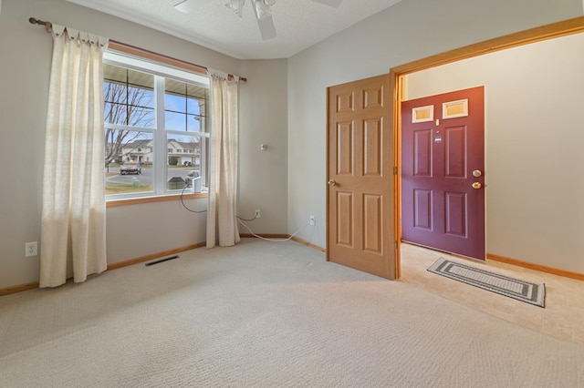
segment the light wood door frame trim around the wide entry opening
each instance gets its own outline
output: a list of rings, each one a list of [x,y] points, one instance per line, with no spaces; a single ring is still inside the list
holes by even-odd
[[[394,239],[397,241],[395,252],[395,277],[401,278],[401,101],[405,98],[405,76],[428,68],[482,56],[516,46],[541,42],[560,36],[584,32],[584,16],[575,17],[546,26],[531,28],[515,34],[485,40],[470,46],[456,48],[435,56],[428,56],[405,65],[391,67],[390,90],[393,104],[390,104],[390,119],[393,122],[393,206]]]

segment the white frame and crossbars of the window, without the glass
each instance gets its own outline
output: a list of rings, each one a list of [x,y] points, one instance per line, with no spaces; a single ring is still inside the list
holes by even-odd
[[[172,78],[177,81],[199,85],[202,87],[210,87],[208,77],[201,74],[189,72],[177,67],[165,65],[152,61],[147,58],[130,56],[113,50],[106,50],[103,54],[103,63],[129,68],[131,70],[141,71],[154,76],[154,126],[152,128],[142,128],[134,126],[124,126],[120,124],[105,123],[105,128],[113,128],[120,130],[148,132],[153,136],[154,144],[154,160],[152,166],[152,191],[148,192],[134,192],[127,194],[112,194],[106,195],[106,201],[114,199],[138,199],[148,197],[172,196],[180,194],[182,189],[167,189],[167,165],[168,165],[168,144],[167,138],[172,135],[176,136],[197,136],[204,138],[207,143],[205,147],[201,147],[201,176],[207,176],[207,163],[209,161],[205,155],[205,149],[208,146],[210,134],[208,132],[187,132],[180,130],[170,130],[165,128],[164,118],[164,79]],[[211,101],[209,101],[209,104]],[[210,117],[207,117],[209,120]],[[203,129],[203,128],[202,128]]]

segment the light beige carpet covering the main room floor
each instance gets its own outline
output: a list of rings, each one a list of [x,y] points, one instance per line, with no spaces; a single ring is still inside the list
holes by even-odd
[[[0,387],[584,386],[577,344],[295,242],[180,256],[1,297]]]

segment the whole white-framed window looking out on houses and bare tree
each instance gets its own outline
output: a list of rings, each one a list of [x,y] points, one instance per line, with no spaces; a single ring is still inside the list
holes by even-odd
[[[207,77],[106,51],[104,99],[107,199],[206,191]]]

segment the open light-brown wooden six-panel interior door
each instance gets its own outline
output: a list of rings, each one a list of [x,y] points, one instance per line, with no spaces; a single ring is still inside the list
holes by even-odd
[[[396,277],[389,75],[328,87],[327,260]]]

